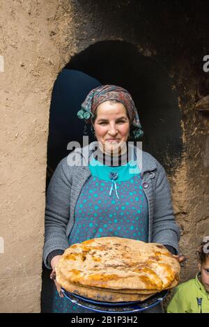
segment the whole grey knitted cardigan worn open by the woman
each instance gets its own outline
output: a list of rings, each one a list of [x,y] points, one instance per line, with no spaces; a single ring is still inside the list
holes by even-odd
[[[74,213],[77,199],[87,178],[91,176],[88,160],[95,142],[75,149],[63,158],[50,180],[45,206],[45,245],[43,260],[51,268],[47,257],[54,250],[69,247],[68,236],[75,222]],[[95,148],[94,148],[95,149]],[[138,148],[134,149],[134,158]],[[141,151],[137,165],[141,171],[142,183],[148,200],[148,241],[170,245],[178,252],[180,230],[176,225],[171,203],[171,190],[167,175],[152,155]]]

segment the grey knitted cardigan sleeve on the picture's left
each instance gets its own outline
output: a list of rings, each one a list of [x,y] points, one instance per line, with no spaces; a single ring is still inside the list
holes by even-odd
[[[45,206],[45,245],[43,260],[47,268],[47,257],[54,250],[68,248],[66,228],[70,218],[70,176],[66,158],[56,167],[49,182]]]

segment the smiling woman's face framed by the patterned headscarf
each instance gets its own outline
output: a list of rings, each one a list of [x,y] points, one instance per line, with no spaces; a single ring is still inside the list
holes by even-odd
[[[102,151],[119,155],[130,132],[130,121],[123,103],[105,101],[98,105],[93,126]]]

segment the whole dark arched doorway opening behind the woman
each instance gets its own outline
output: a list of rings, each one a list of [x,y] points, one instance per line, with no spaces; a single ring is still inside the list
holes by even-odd
[[[172,79],[137,47],[123,41],[102,41],[75,55],[54,83],[49,116],[47,185],[59,161],[68,155],[68,142],[83,142],[84,121],[77,118],[81,103],[100,84],[116,84],[130,92],[139,112],[143,150],[165,169],[175,169],[182,151],[180,110]],[[89,141],[93,135],[88,126]],[[51,312],[49,270],[42,273],[42,312]]]

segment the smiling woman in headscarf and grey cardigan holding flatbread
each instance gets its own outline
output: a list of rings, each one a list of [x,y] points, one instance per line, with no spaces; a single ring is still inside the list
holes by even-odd
[[[88,93],[78,116],[92,124],[97,141],[63,158],[49,183],[43,257],[52,279],[63,251],[90,238],[162,243],[177,254],[180,234],[164,168],[128,144],[130,133],[136,139],[143,135],[130,93],[99,86]],[[90,312],[61,298],[56,287],[54,312]]]

